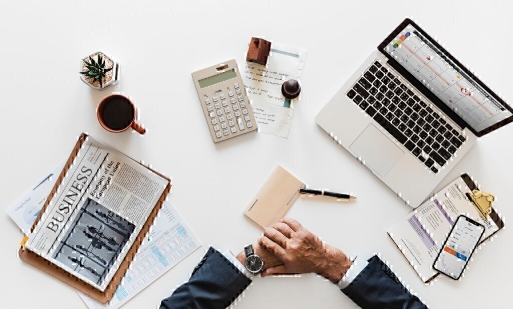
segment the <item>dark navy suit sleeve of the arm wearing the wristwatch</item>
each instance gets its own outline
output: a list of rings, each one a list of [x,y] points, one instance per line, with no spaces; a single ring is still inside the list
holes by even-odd
[[[164,299],[161,309],[229,306],[251,283],[224,255],[210,247],[187,283]]]

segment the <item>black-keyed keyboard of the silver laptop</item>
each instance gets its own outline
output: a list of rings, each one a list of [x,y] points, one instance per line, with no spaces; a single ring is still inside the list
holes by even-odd
[[[459,129],[378,61],[346,95],[433,173],[438,173],[466,140]]]

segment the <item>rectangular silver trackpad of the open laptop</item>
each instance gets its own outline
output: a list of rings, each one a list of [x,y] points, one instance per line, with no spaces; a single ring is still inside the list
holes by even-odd
[[[374,125],[369,124],[351,146],[365,165],[384,177],[399,161],[404,151]]]

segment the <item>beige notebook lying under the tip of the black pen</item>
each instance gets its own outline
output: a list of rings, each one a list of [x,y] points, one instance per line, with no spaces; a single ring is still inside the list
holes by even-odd
[[[263,228],[272,226],[285,216],[305,185],[278,165],[244,209],[244,215]]]

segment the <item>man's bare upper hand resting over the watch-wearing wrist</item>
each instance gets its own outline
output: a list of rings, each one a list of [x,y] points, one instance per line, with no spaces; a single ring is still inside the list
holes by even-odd
[[[259,244],[283,262],[268,267],[262,277],[317,273],[337,283],[352,264],[341,250],[326,245],[294,219],[285,218],[266,228]]]

